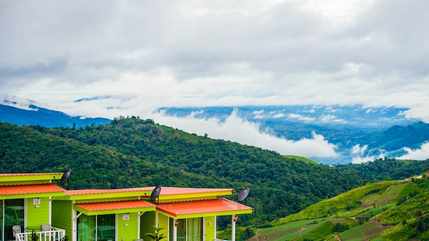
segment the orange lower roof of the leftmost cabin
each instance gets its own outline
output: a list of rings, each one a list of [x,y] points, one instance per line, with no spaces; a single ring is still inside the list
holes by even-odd
[[[65,192],[65,189],[53,183],[0,186],[0,195],[38,194],[47,192]]]

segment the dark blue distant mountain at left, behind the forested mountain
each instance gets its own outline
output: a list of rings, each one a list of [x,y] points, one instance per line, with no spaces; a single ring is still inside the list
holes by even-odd
[[[110,123],[107,118],[82,118],[63,112],[27,105],[27,110],[10,105],[0,105],[0,121],[15,125],[41,125],[43,127],[84,127]]]

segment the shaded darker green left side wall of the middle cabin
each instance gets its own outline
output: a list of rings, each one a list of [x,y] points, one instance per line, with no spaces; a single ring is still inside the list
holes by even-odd
[[[73,228],[72,207],[71,201],[52,201],[52,226],[64,229],[70,240]]]

